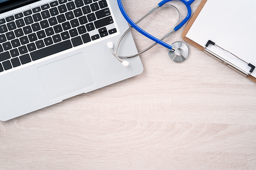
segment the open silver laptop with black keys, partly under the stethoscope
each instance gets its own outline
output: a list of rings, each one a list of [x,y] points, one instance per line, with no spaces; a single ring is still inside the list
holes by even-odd
[[[136,76],[107,43],[128,28],[116,0],[0,0],[0,120]],[[119,55],[137,53],[129,33]]]

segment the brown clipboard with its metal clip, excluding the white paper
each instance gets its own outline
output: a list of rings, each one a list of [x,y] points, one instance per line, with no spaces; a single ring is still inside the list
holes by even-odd
[[[200,5],[198,6],[196,12],[194,13],[194,15],[192,16],[191,20],[189,21],[188,25],[186,26],[185,30],[183,31],[182,33],[182,38],[183,40],[185,40],[186,42],[188,42],[189,44],[193,45],[194,47],[198,48],[199,50],[201,51],[205,51],[206,49],[206,46],[208,45],[215,45],[214,42],[212,42],[211,40],[208,41],[208,43],[206,44],[205,47],[197,44],[196,42],[194,42],[193,40],[189,39],[187,36],[188,32],[190,31],[191,27],[193,26],[194,22],[196,21],[198,15],[200,14],[200,12],[202,11],[203,7],[205,6],[207,0],[202,0],[202,2],[200,3]],[[219,47],[219,46],[218,46]],[[220,47],[221,48],[221,47]],[[222,48],[221,48],[222,49]],[[224,50],[224,49],[223,49]],[[208,53],[209,54],[209,53]],[[232,53],[231,53],[232,54]],[[210,55],[210,54],[209,54]],[[210,55],[212,56],[212,55]],[[215,56],[216,57],[216,56]],[[218,60],[218,58],[216,57],[216,59]],[[219,60],[220,61],[220,60]],[[242,60],[243,61],[243,60]],[[222,62],[224,64],[227,65],[226,62]],[[249,63],[247,63],[249,64]],[[250,71],[253,71],[253,69],[255,68],[253,65],[251,65],[251,70]],[[254,67],[254,68],[253,68]],[[234,69],[233,67],[231,67],[232,69]],[[237,71],[237,69],[234,69]],[[255,72],[256,72],[256,69],[255,69]],[[251,81],[253,81],[254,83],[256,83],[256,78],[251,76],[251,75],[247,75],[246,78],[250,79]]]

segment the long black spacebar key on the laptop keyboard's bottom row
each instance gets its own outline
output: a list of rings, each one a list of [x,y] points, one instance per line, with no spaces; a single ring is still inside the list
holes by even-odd
[[[63,41],[61,43],[54,44],[52,46],[34,51],[34,52],[30,53],[30,56],[31,56],[32,60],[35,61],[35,60],[39,60],[41,58],[59,53],[64,50],[71,49],[71,48],[72,48],[72,44],[71,44],[70,40],[67,40],[67,41]]]

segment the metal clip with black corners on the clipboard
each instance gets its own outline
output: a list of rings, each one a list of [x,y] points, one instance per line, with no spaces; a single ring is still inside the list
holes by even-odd
[[[230,67],[231,69],[237,71],[238,73],[241,73],[241,74],[244,75],[245,77],[249,76],[249,75],[254,71],[254,69],[255,69],[255,66],[254,66],[254,65],[252,65],[252,64],[250,64],[250,63],[247,63],[246,61],[240,59],[239,57],[237,57],[237,56],[234,55],[233,53],[230,53],[229,51],[227,51],[227,50],[225,50],[225,49],[223,49],[223,48],[221,48],[221,49],[224,50],[224,51],[226,51],[226,52],[228,52],[228,53],[230,53],[230,54],[232,54],[232,55],[235,56],[236,58],[238,58],[238,59],[240,59],[241,61],[243,61],[244,63],[246,63],[249,67],[251,67],[249,73],[247,73],[246,71],[244,71],[244,70],[240,69],[239,67],[233,65],[232,63],[228,62],[227,60],[225,60],[225,59],[223,59],[222,57],[218,56],[217,54],[213,53],[212,51],[208,50],[207,47],[208,47],[210,44],[213,45],[213,46],[215,45],[215,46],[221,48],[220,46],[216,45],[213,41],[209,40],[209,41],[207,42],[207,44],[205,45],[205,48],[204,48],[204,52],[207,53],[208,55],[212,56],[213,58],[217,59],[218,61],[222,62],[223,64],[227,65],[227,66]]]

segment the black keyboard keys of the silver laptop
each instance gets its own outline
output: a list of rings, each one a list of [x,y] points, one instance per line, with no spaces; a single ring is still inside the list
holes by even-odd
[[[106,0],[58,0],[0,19],[0,72],[116,33],[106,28],[109,8]]]

